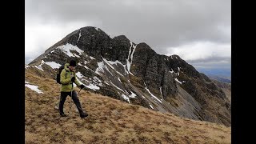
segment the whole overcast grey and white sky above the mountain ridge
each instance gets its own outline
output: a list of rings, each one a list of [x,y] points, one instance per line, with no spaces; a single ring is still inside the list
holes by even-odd
[[[25,53],[31,62],[74,30],[146,42],[195,67],[230,69],[230,0],[25,0]]]

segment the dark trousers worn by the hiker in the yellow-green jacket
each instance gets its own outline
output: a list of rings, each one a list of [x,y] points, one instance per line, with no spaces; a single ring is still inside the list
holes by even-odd
[[[66,101],[66,97],[68,95],[71,97],[71,92],[61,92],[61,98],[60,98],[60,102],[59,102],[59,112],[61,114],[64,114],[63,105],[64,105],[64,102]],[[73,99],[74,104],[78,107],[79,113],[83,114],[84,112],[82,111],[81,103],[78,99],[78,94],[74,90],[72,91],[72,97],[71,98]]]

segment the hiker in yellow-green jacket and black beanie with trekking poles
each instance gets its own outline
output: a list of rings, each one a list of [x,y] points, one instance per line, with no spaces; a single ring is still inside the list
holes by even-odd
[[[61,88],[61,98],[59,102],[59,113],[62,117],[66,117],[66,114],[64,114],[63,112],[63,105],[64,105],[64,102],[66,101],[66,97],[69,95],[73,99],[74,104],[77,106],[80,117],[86,118],[88,114],[86,114],[86,112],[82,110],[82,106],[78,99],[78,95],[74,91],[74,87],[73,87],[73,82],[77,86],[80,86],[81,89],[85,87],[83,84],[80,84],[78,82],[75,75],[75,70],[74,70],[75,67],[76,67],[76,62],[74,60],[71,60],[70,63],[65,64],[64,69],[60,74],[60,82],[62,83],[62,88]]]

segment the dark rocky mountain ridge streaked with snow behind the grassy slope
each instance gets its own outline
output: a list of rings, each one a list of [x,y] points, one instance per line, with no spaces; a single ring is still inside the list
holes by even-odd
[[[110,38],[93,26],[68,34],[26,66],[55,78],[58,66],[78,62],[86,90],[162,113],[230,126],[231,103],[221,88],[178,55],[157,54],[125,35]]]

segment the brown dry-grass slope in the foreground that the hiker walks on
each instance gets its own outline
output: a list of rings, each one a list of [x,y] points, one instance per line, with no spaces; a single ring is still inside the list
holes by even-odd
[[[88,90],[81,90],[78,96],[89,116],[81,119],[67,97],[64,110],[68,117],[61,118],[54,109],[60,85],[44,74],[46,70],[26,69],[27,144],[231,143],[230,127],[163,114]]]

